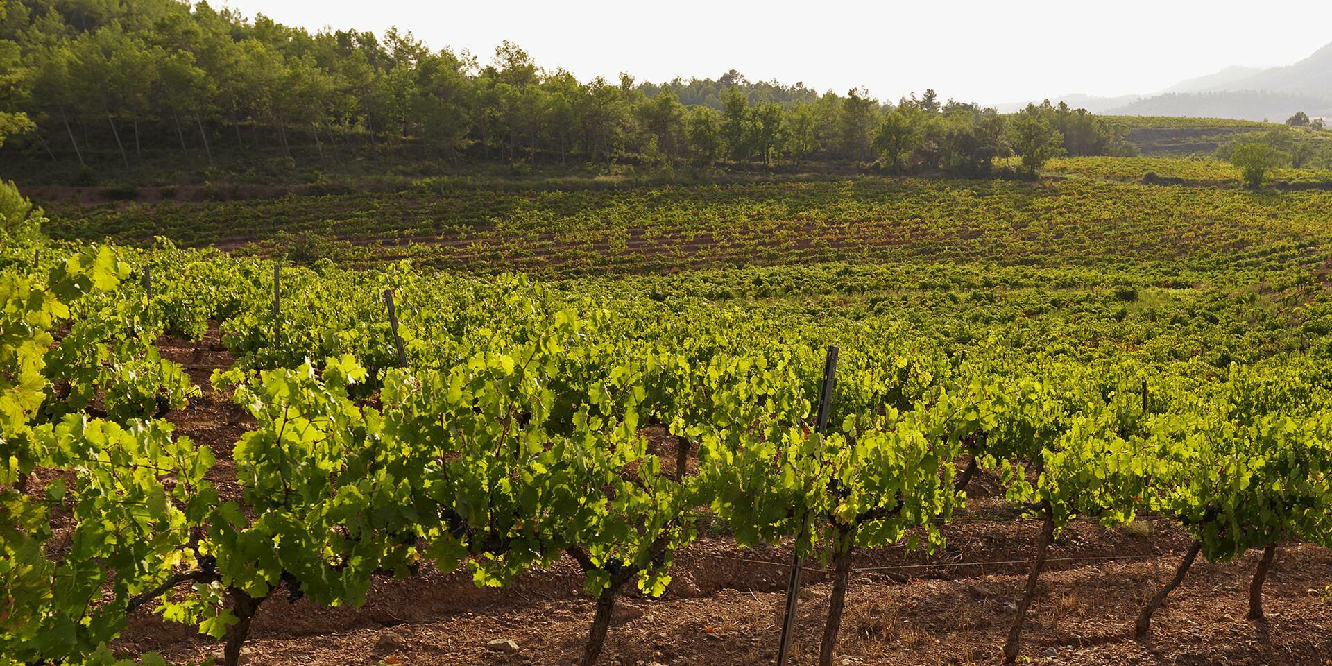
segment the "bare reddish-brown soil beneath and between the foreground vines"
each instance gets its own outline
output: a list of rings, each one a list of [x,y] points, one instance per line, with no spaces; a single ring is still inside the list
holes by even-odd
[[[204,388],[190,409],[170,420],[180,434],[213,446],[214,478],[222,481],[232,473],[229,446],[248,425],[225,396],[208,388],[210,366],[230,358],[217,350],[216,329],[201,344],[160,344],[165,356],[192,364],[190,373]],[[653,446],[674,465],[670,437],[654,434]],[[1039,526],[984,497],[991,488],[992,481],[978,478],[975,494],[982,497],[946,527],[942,551],[890,547],[855,557],[836,663],[1000,662],[999,647]],[[1151,641],[1128,638],[1138,609],[1172,575],[1185,545],[1167,521],[1142,521],[1123,530],[1084,521],[1068,526],[1051,546],[1022,654],[1032,663],[1060,665],[1332,663],[1332,602],[1323,595],[1332,582],[1332,551],[1300,543],[1277,551],[1264,595],[1267,621],[1244,619],[1255,551],[1224,565],[1195,565],[1158,613]],[[611,627],[599,663],[773,662],[789,558],[786,547],[746,549],[725,535],[705,535],[678,554],[662,599],[621,601],[634,610]],[[817,659],[830,591],[821,562],[811,562],[807,571],[797,665]],[[465,574],[436,571],[385,579],[360,609],[312,607],[274,597],[256,617],[245,657],[256,666],[577,663],[593,609],[579,587],[577,567],[563,561],[507,589],[477,589]],[[517,642],[519,651],[488,650],[486,642],[496,638]],[[220,643],[149,613],[132,618],[117,647],[160,651],[174,661],[220,655]]]

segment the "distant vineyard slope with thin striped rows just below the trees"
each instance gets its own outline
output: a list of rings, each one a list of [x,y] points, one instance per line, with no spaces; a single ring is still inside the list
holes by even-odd
[[[1192,165],[1195,163],[1181,163]],[[1056,168],[1229,178],[1215,163],[1070,160]],[[1136,170],[1135,170],[1136,169]],[[1116,176],[1119,177],[1119,176]],[[819,261],[1220,268],[1327,233],[1332,194],[1264,196],[1074,178],[1054,182],[863,178],[610,190],[430,189],[224,204],[55,209],[61,238],[254,249],[314,262],[538,276],[674,272]]]

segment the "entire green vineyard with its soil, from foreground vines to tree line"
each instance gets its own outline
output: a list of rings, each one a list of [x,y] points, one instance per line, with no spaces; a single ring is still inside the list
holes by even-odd
[[[1332,197],[1052,168],[57,208],[0,663],[1324,663]]]

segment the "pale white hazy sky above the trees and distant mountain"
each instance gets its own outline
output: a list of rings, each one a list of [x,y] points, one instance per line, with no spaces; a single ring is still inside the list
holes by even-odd
[[[409,29],[432,48],[490,60],[510,40],[582,80],[717,77],[803,81],[880,99],[1022,101],[1151,93],[1225,65],[1279,65],[1332,41],[1325,12],[1229,0],[852,3],[844,0],[408,1],[228,0],[285,24]],[[1319,16],[1321,13],[1321,16]],[[1307,20],[1300,20],[1304,15]]]

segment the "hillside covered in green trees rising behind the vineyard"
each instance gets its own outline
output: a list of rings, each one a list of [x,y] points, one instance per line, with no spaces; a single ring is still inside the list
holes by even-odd
[[[1028,109],[1023,133],[934,91],[886,104],[735,71],[579,81],[510,43],[480,59],[206,3],[0,0],[0,169],[27,184],[322,178],[368,161],[366,174],[818,161],[986,176],[1014,153],[1128,149],[1123,129],[1068,108]]]

